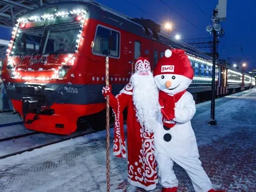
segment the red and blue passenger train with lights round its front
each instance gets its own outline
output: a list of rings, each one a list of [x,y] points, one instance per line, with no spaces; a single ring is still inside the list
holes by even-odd
[[[184,49],[195,70],[189,92],[211,92],[212,58],[161,33],[148,19],[132,19],[94,1],[42,6],[17,20],[3,65],[3,82],[26,128],[71,134],[89,122],[105,127],[105,58],[117,94],[129,83],[134,61],[152,68],[166,49]],[[252,88],[255,79],[217,61],[216,95]]]

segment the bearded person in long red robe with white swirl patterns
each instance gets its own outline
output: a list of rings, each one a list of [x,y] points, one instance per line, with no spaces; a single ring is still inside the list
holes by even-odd
[[[102,90],[109,95],[115,113],[114,155],[126,157],[122,112],[127,107],[128,182],[127,191],[136,187],[150,191],[156,188],[157,164],[154,157],[154,131],[158,126],[159,93],[147,58],[138,58],[134,74],[116,97],[111,86]]]

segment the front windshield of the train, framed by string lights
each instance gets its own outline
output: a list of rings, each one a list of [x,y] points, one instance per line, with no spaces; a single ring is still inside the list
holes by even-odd
[[[10,55],[73,53],[79,29],[77,23],[20,28]]]

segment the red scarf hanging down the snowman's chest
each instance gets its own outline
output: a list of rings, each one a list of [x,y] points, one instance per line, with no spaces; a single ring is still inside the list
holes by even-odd
[[[180,97],[186,92],[187,90],[184,90],[182,92],[176,93],[175,95],[168,95],[168,93],[165,93],[163,91],[159,91],[159,104],[163,106],[164,108],[161,109],[161,112],[163,114],[163,124],[168,127],[172,128],[176,123],[173,122],[173,118],[175,118],[175,102],[178,102]]]

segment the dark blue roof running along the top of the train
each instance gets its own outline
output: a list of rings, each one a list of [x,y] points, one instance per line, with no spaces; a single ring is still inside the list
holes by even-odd
[[[195,47],[182,43],[178,40],[175,40],[171,36],[168,36],[158,30],[157,25],[154,21],[148,19],[134,19],[123,13],[116,12],[115,10],[104,6],[103,4],[97,3],[92,0],[83,0],[83,1],[61,1],[58,3],[46,4],[31,12],[25,13],[22,17],[28,18],[31,16],[40,16],[44,15],[47,11],[47,8],[51,8],[54,6],[58,6],[57,12],[69,12],[71,10],[83,9],[88,11],[89,18],[100,20],[101,22],[105,22],[111,26],[115,26],[116,28],[122,29],[124,31],[128,31],[135,35],[141,36],[143,38],[151,38],[156,42],[160,42],[162,44],[166,44],[174,49],[184,49],[188,54],[193,56],[200,57],[204,60],[212,60],[212,57],[206,54]],[[143,21],[147,23],[147,25],[143,25]],[[145,27],[146,26],[146,27]],[[149,28],[147,28],[149,26]],[[151,26],[151,28],[150,28]],[[150,35],[145,34],[145,30],[148,30]],[[156,35],[157,33],[157,35]],[[154,38],[154,37],[158,38]],[[225,61],[216,60],[219,64],[227,65]],[[228,68],[232,68],[229,65]],[[232,70],[236,70],[232,68]]]

